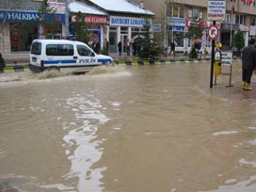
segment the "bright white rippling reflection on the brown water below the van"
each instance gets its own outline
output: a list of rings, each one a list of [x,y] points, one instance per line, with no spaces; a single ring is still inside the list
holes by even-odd
[[[97,131],[109,119],[103,113],[103,105],[93,94],[78,94],[67,99],[67,104],[72,107],[76,120],[82,120],[83,123],[81,126],[72,123],[74,126],[63,137],[67,143],[66,154],[72,163],[71,171],[64,178],[78,177],[78,191],[102,191],[100,180],[106,168],[91,167],[103,154],[103,149],[100,148],[103,140],[97,139]]]

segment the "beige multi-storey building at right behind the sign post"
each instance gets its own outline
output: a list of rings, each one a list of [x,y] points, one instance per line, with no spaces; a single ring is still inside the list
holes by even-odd
[[[201,0],[132,0],[135,3],[143,2],[145,7],[155,13],[154,24],[161,26],[154,33],[155,37],[164,37],[163,46],[168,46],[175,40],[178,51],[184,51],[192,46],[192,41],[186,40],[184,34],[193,18],[197,18],[204,29],[200,37],[202,48],[211,46],[207,30],[211,21],[207,21],[208,1]],[[245,44],[255,37],[256,29],[256,1],[255,0],[226,0],[225,21],[217,23],[220,41],[224,46],[233,46],[233,36],[241,30],[244,34]],[[208,48],[209,49],[209,48]]]

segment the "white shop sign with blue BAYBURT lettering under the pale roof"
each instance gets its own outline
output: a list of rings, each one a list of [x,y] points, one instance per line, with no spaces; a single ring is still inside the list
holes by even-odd
[[[148,23],[152,24],[152,21],[148,20]],[[134,18],[134,17],[110,16],[109,24],[111,26],[143,27],[146,24],[146,20],[142,18]]]

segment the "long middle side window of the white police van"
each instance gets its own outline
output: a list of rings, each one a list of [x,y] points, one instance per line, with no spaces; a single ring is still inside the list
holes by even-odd
[[[46,56],[73,56],[72,44],[47,44]]]

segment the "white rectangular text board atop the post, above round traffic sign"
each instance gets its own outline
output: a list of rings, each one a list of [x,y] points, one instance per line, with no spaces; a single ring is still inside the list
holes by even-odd
[[[226,17],[226,0],[208,0],[207,20],[221,22]]]

